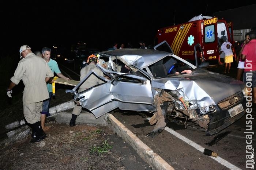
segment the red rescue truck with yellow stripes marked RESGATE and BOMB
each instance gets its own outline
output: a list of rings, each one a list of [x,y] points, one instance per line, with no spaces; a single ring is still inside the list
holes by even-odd
[[[204,56],[205,61],[208,61],[211,66],[221,65],[225,58],[225,53],[219,55],[222,40],[234,44],[233,24],[217,17],[199,15],[187,23],[160,28],[155,36],[154,44],[164,40],[172,48],[175,55],[191,63],[195,63],[196,52],[201,61],[202,56]],[[202,47],[203,55],[200,54],[199,50],[194,49],[198,44]],[[233,51],[235,50],[233,49]],[[236,54],[234,61],[235,59]]]

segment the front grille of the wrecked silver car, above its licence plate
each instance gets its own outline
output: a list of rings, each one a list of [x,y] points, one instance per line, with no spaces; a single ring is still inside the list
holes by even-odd
[[[218,102],[218,106],[223,110],[227,110],[237,103],[241,103],[244,100],[244,97],[241,92],[238,92],[236,94],[233,94],[232,96],[229,96],[228,98],[225,98],[222,101]]]

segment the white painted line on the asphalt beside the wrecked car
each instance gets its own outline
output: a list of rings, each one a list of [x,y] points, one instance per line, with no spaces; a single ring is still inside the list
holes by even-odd
[[[147,119],[149,120],[150,117],[147,117]],[[189,144],[190,146],[193,146],[194,148],[196,148],[197,150],[201,151],[202,153],[204,152],[204,149],[202,146],[200,146],[199,144],[196,144],[195,142],[193,142],[192,140],[189,140],[188,138],[185,138],[184,136],[182,136],[181,134],[179,134],[178,132],[172,130],[169,127],[165,127],[165,130],[167,132],[169,132],[170,134],[176,136],[177,138],[183,140],[184,142],[186,142],[187,144]],[[214,159],[215,161],[219,162],[220,164],[222,164],[223,166],[226,166],[229,169],[232,170],[241,170],[240,168],[238,168],[237,166],[233,165],[232,163],[226,161],[225,159],[222,159],[221,157],[210,157],[212,159]]]

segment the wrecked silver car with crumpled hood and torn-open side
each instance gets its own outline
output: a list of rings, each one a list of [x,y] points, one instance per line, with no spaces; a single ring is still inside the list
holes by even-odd
[[[98,54],[108,69],[97,65],[108,78],[93,70],[75,86],[75,102],[96,118],[119,108],[154,113],[148,133],[155,137],[166,126],[167,116],[190,120],[216,134],[245,114],[245,84],[234,78],[201,69],[171,52],[151,49],[117,49]],[[122,73],[126,65],[129,73]],[[78,93],[94,74],[104,81]]]

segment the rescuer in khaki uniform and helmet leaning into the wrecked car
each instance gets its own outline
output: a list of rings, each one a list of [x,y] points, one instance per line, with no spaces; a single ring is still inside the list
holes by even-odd
[[[102,73],[102,71],[96,67],[96,64],[98,63],[98,58],[95,55],[90,55],[87,59],[87,63],[88,65],[86,65],[85,67],[83,67],[80,70],[80,81],[83,80],[83,78],[91,71],[94,70],[95,73],[98,74],[98,76],[104,76],[104,74]],[[104,62],[101,62],[102,65],[105,64]],[[101,66],[102,66],[101,65]],[[99,80],[96,76],[94,76],[93,74],[91,74],[90,77],[87,78],[86,81],[84,81],[84,83],[79,87],[78,92],[82,92],[92,86],[95,86],[97,84],[102,84],[104,83],[102,80]],[[72,118],[70,120],[69,125],[75,126],[75,122],[76,122],[76,117],[80,115],[82,111],[82,106],[75,104],[75,107],[72,111]]]

